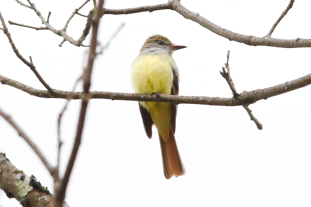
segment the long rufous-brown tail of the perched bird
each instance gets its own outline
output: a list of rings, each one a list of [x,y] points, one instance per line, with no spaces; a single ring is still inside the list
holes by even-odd
[[[163,141],[160,134],[159,138],[160,138],[162,162],[165,178],[169,179],[172,176],[178,177],[186,174],[183,162],[180,159],[180,155],[175,141],[175,136],[172,132],[172,129],[170,129],[169,141],[167,143]]]

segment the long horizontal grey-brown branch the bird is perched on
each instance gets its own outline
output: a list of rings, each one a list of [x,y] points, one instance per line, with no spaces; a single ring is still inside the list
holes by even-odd
[[[6,78],[0,75],[0,83],[10,85],[14,88],[20,89],[30,95],[42,97],[42,98],[63,98],[63,99],[82,99],[82,92],[68,92],[55,90],[55,94],[52,96],[48,91],[38,90],[27,86],[23,83]],[[151,94],[140,93],[119,93],[119,92],[90,92],[89,98],[104,98],[111,100],[127,100],[127,101],[154,101],[154,102],[170,102],[174,104],[203,104],[214,106],[241,106],[244,104],[252,104],[262,99],[267,99],[273,96],[277,96],[298,88],[305,87],[311,84],[311,73],[301,78],[288,81],[276,86],[272,86],[264,89],[257,89],[248,92],[240,93],[239,97],[234,98],[219,98],[219,97],[202,97],[202,96],[174,96],[159,94],[154,96]]]

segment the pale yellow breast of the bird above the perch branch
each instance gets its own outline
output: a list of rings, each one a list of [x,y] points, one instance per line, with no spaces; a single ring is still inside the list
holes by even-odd
[[[132,85],[137,93],[171,94],[175,61],[168,53],[140,54],[132,63]]]

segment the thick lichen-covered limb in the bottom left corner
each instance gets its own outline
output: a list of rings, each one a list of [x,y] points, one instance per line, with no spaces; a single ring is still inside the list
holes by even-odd
[[[53,207],[53,195],[46,187],[35,179],[28,177],[17,169],[5,156],[0,153],[0,188],[9,198],[15,198],[22,206]],[[63,207],[69,207],[66,202]]]

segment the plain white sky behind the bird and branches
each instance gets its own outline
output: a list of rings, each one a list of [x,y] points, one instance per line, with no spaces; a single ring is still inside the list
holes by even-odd
[[[33,1],[50,24],[63,28],[84,0]],[[265,36],[288,5],[283,1],[187,1],[181,3],[231,31]],[[26,3],[26,1],[24,2]],[[107,8],[129,8],[162,1],[105,1]],[[273,38],[310,38],[311,2],[296,1],[276,27]],[[80,13],[87,15],[89,2]],[[34,11],[14,0],[0,2],[8,20],[41,26]],[[67,34],[80,37],[86,18],[75,16]],[[91,90],[132,92],[130,65],[147,37],[161,34],[188,48],[174,52],[180,72],[179,95],[231,97],[219,70],[230,50],[230,72],[238,92],[267,88],[310,73],[309,48],[248,46],[229,41],[175,11],[105,15],[99,42],[124,28],[97,57]],[[48,30],[36,31],[7,23],[19,52],[32,60],[39,74],[55,89],[70,91],[86,64],[88,48],[68,42]],[[84,44],[89,43],[88,38]],[[45,89],[14,54],[0,33],[0,74],[37,89]],[[81,84],[77,91],[81,91]],[[57,119],[66,100],[30,96],[0,84],[0,107],[25,130],[48,160],[57,157]],[[263,124],[258,130],[242,106],[180,104],[176,140],[187,174],[166,180],[159,138],[145,134],[136,101],[93,99],[87,109],[81,147],[67,188],[71,207],[85,206],[310,206],[311,141],[310,87],[250,105]],[[61,171],[67,164],[77,127],[80,100],[70,101],[62,119]],[[53,192],[53,180],[39,158],[16,131],[0,118],[0,151],[28,176]],[[0,194],[0,206],[20,204]]]

